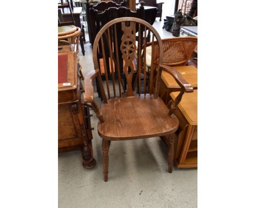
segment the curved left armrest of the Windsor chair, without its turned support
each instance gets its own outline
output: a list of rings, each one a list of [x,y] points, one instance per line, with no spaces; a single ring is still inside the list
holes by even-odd
[[[84,78],[84,102],[91,103],[94,100],[94,78],[98,75],[98,70],[90,71]]]

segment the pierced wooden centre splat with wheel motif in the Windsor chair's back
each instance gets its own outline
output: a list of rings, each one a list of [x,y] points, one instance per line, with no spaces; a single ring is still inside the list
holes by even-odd
[[[135,58],[135,51],[136,51],[136,25],[135,22],[122,22],[122,30],[124,32],[121,38],[121,53],[122,58],[124,60],[124,72],[127,79],[127,92],[126,96],[130,97],[133,96],[133,89],[132,89],[132,76],[135,72],[135,67],[133,65],[133,59]]]

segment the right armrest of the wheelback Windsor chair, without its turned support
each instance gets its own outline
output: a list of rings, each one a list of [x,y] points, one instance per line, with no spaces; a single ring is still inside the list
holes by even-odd
[[[159,65],[161,70],[166,71],[168,74],[170,74],[175,81],[178,83],[179,87],[182,88],[182,91],[184,91],[185,93],[193,93],[194,89],[191,86],[191,84],[189,84],[187,81],[185,81],[185,79],[183,78],[183,76],[181,74],[179,74],[179,72],[172,68],[171,66],[166,66],[166,65]]]

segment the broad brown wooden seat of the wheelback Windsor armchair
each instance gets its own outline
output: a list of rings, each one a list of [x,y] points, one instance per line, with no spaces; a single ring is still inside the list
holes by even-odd
[[[175,115],[153,95],[117,97],[101,105],[104,122],[98,123],[98,134],[107,140],[126,140],[164,136],[178,128]]]

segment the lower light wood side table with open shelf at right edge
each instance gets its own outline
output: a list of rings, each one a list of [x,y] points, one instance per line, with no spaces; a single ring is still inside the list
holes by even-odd
[[[174,100],[179,92],[171,93]],[[197,167],[197,90],[185,93],[174,112],[179,120],[174,164],[178,168]]]

